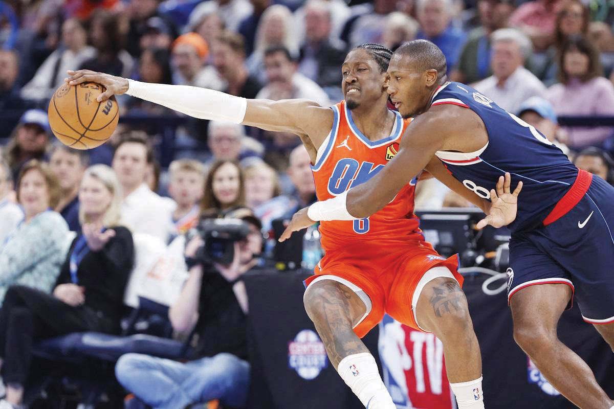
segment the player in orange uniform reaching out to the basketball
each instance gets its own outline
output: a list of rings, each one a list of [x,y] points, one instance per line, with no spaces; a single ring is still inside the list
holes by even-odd
[[[198,118],[293,132],[311,156],[318,197],[327,199],[381,172],[410,124],[387,108],[391,56],[390,50],[374,44],[352,50],[342,66],[345,100],[332,108],[306,100],[246,100],[88,71],[69,72],[68,80],[102,83],[107,86],[104,97],[128,93]],[[445,169],[433,172],[488,210],[490,202],[468,192]],[[330,361],[365,407],[395,409],[375,359],[359,339],[387,312],[409,326],[434,332],[443,342],[459,407],[484,408],[480,348],[461,291],[457,256],[445,259],[424,242],[413,215],[412,179],[370,218],[322,223],[326,255],[316,275],[306,281],[305,308]],[[499,214],[508,222],[515,217],[516,197],[502,186],[503,180],[500,193],[511,204]]]

